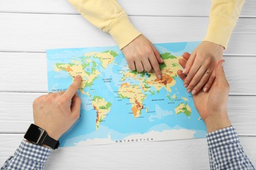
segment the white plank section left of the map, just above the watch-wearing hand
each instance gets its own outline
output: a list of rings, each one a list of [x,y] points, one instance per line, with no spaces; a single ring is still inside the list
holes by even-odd
[[[0,92],[47,92],[46,53],[0,52]]]

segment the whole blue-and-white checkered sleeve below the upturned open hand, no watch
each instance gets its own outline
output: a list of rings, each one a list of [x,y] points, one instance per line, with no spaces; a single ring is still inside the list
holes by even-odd
[[[207,143],[211,169],[255,169],[245,155],[234,127],[208,133]]]

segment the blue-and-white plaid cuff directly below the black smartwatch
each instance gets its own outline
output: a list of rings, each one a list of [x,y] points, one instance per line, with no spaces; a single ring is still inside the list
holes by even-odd
[[[39,146],[36,144],[28,143],[26,141],[22,141],[14,155],[18,155],[25,159],[37,161],[38,163],[44,164],[51,150],[51,148],[46,148],[44,146]]]

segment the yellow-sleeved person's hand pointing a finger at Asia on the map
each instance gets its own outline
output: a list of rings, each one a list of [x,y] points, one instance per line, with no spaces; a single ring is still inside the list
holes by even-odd
[[[148,41],[144,35],[139,35],[122,49],[131,70],[151,71],[154,69],[156,77],[161,79],[159,63],[163,63],[158,50],[152,42]]]

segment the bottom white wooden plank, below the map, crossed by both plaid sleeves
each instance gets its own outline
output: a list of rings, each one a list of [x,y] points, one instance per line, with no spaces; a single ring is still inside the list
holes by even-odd
[[[0,134],[0,163],[14,153],[22,135]],[[256,165],[256,137],[240,137]],[[185,162],[185,163],[184,163]],[[0,164],[1,165],[1,164]],[[79,146],[54,150],[45,169],[209,169],[206,139]]]

